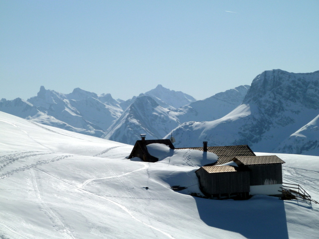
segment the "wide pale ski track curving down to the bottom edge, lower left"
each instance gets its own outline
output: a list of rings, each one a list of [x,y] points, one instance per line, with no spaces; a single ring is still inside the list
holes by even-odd
[[[75,239],[73,232],[70,229],[70,226],[64,222],[63,217],[59,215],[56,212],[56,210],[50,207],[49,204],[46,203],[41,198],[41,191],[39,190],[38,183],[37,183],[37,180],[41,180],[41,177],[36,177],[33,169],[30,170],[30,173],[31,173],[31,180],[32,180],[33,188],[34,188],[34,193],[38,200],[37,204],[39,205],[39,209],[41,211],[44,211],[44,214],[48,216],[48,218],[54,224],[54,226],[58,228],[58,230],[64,235],[63,238]]]

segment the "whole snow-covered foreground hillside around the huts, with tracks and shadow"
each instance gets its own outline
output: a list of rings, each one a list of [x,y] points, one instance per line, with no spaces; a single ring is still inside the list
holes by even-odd
[[[192,197],[214,155],[156,144],[145,163],[132,147],[0,112],[0,238],[318,238],[318,204]],[[284,181],[319,201],[319,157],[278,156]]]

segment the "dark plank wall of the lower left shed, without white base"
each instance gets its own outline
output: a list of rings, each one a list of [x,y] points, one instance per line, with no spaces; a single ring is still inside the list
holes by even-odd
[[[249,192],[249,171],[208,173],[200,168],[196,174],[201,189],[210,195]]]

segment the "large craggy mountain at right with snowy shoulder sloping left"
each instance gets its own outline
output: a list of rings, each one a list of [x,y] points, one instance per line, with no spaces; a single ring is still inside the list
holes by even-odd
[[[242,105],[226,116],[174,129],[176,145],[196,147],[209,141],[211,146],[248,144],[255,151],[278,152],[282,141],[318,115],[318,81],[319,71],[264,71],[253,80]]]

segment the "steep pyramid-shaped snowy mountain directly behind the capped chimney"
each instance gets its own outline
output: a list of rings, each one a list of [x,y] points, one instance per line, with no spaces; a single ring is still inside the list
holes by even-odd
[[[105,139],[134,144],[140,134],[147,139],[161,139],[178,126],[177,113],[159,106],[149,96],[138,97],[109,128]]]

